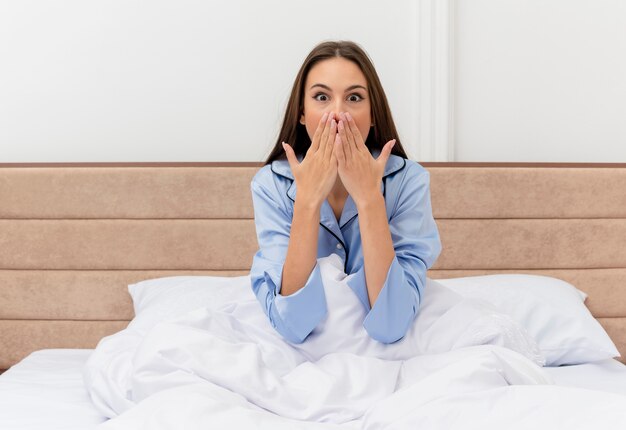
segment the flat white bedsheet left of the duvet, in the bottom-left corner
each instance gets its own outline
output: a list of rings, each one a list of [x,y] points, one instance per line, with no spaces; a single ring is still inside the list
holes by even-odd
[[[91,349],[36,351],[0,376],[0,429],[88,430],[106,421],[82,370]]]

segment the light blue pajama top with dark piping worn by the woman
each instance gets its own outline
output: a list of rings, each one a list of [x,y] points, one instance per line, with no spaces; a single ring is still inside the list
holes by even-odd
[[[379,153],[372,151],[375,158]],[[298,158],[302,160],[302,155]],[[415,161],[393,154],[387,160],[381,192],[396,256],[374,307],[367,295],[354,200],[348,196],[339,222],[328,200],[321,207],[317,258],[338,254],[344,261],[344,272],[356,273],[348,285],[367,311],[365,330],[379,342],[392,343],[406,334],[419,309],[426,269],[441,252],[429,178],[428,171]],[[283,338],[301,343],[324,320],[327,308],[319,263],[304,287],[288,296],[280,294],[296,199],[296,183],[287,160],[263,166],[252,179],[251,188],[259,242],[250,271],[252,290]]]

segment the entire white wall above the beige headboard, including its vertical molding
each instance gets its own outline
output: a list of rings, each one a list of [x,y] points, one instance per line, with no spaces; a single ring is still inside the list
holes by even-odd
[[[0,0],[0,162],[260,161],[319,41],[420,161],[626,162],[623,0]]]

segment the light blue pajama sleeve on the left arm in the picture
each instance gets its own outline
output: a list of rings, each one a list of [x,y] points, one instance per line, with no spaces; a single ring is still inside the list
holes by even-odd
[[[315,263],[304,287],[288,296],[280,295],[292,214],[282,200],[287,196],[280,196],[271,179],[266,182],[270,184],[255,178],[251,184],[259,242],[250,270],[252,290],[276,331],[289,342],[302,343],[327,313],[319,263]]]

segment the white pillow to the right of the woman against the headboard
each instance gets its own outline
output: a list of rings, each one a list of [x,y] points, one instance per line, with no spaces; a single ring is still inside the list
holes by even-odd
[[[492,303],[521,324],[539,344],[547,366],[619,357],[584,300],[587,295],[560,279],[522,274],[437,279],[453,291]]]

